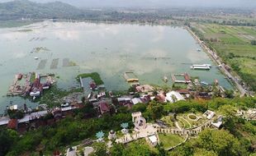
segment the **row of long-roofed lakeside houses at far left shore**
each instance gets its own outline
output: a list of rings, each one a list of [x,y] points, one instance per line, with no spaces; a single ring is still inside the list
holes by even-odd
[[[40,126],[52,125],[59,121],[63,117],[72,116],[73,110],[78,108],[83,108],[84,104],[82,101],[72,101],[65,102],[61,107],[48,109],[47,106],[42,104],[39,106],[40,111],[33,112],[29,108],[18,108],[17,105],[13,105],[8,109],[12,109],[13,112],[22,111],[25,112],[24,116],[20,119],[1,117],[0,126],[7,126],[7,128],[18,131],[18,133],[23,134],[31,129],[36,129]]]

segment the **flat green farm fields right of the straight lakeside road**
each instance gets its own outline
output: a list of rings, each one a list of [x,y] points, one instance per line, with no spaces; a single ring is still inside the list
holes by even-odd
[[[222,60],[256,91],[256,28],[216,24],[192,24],[192,29]]]

